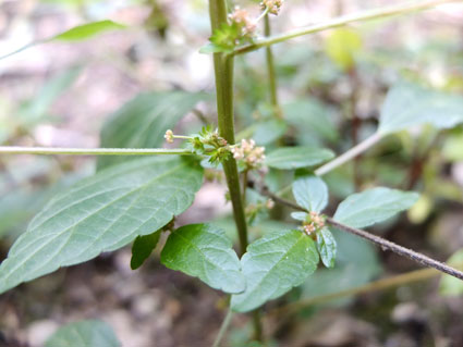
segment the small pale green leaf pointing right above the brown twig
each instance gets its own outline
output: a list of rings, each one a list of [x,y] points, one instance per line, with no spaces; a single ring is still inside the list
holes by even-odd
[[[411,208],[418,198],[413,191],[377,187],[349,196],[333,219],[352,227],[365,227]]]

